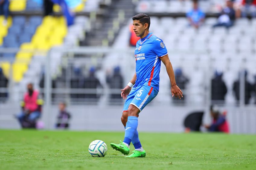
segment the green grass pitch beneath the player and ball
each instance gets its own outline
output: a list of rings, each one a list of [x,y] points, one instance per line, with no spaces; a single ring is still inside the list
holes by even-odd
[[[139,133],[145,158],[124,158],[111,142],[122,132],[0,130],[0,169],[256,169],[256,136]],[[93,140],[107,155],[88,153]],[[134,147],[131,146],[131,150]]]

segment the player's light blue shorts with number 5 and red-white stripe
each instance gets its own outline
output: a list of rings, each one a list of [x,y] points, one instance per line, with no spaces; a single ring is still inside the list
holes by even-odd
[[[132,88],[124,103],[123,112],[128,111],[128,107],[130,104],[136,106],[141,112],[141,110],[147,104],[149,104],[149,102],[151,102],[157,94],[158,90],[148,85],[143,85],[138,88]]]

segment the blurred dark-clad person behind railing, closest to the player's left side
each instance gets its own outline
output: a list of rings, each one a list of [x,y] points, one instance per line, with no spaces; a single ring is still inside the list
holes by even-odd
[[[119,89],[118,93],[111,92],[111,99],[122,99],[120,96],[120,89],[123,88],[123,76],[120,74],[120,67],[116,66],[114,68],[114,74],[112,76],[107,76],[107,83],[110,89]],[[121,100],[122,101],[122,100]]]

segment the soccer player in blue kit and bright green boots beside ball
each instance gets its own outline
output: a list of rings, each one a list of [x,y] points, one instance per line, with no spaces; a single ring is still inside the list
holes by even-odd
[[[135,48],[136,73],[128,85],[121,90],[121,97],[126,99],[121,117],[125,127],[124,140],[120,141],[120,144],[111,143],[110,146],[124,155],[128,155],[132,142],[135,150],[126,157],[145,157],[146,151],[142,148],[137,131],[138,116],[158,94],[161,61],[165,64],[170,78],[172,97],[181,99],[183,96],[182,91],[176,85],[165,44],[157,36],[149,33],[150,17],[146,14],[135,15],[133,25],[133,30],[140,40]]]

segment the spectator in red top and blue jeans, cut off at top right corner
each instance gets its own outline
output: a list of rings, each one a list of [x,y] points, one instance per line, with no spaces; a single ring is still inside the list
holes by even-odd
[[[256,17],[256,0],[242,0],[241,13],[242,17],[247,17],[248,13]]]

